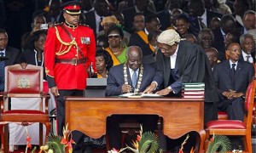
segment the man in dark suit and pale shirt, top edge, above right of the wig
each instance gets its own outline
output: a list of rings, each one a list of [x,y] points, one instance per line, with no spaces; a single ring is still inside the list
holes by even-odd
[[[202,0],[189,1],[189,14],[191,15],[190,20],[192,22],[192,26],[197,31],[209,27],[210,21],[213,17],[222,17],[222,14],[207,10],[204,7],[204,3]]]

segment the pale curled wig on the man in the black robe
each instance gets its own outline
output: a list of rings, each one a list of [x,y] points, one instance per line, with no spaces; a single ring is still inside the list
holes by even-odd
[[[177,31],[173,29],[162,31],[159,37],[157,37],[157,42],[164,43],[170,46],[180,41],[181,41],[180,36],[178,35]]]

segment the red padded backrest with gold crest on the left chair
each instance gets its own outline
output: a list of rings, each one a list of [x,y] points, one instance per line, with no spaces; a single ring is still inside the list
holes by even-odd
[[[40,94],[43,91],[43,67],[25,63],[5,67],[7,94]]]

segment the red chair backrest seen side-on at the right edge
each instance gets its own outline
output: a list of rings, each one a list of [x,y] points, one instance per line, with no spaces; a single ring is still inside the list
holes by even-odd
[[[246,99],[245,99],[245,110],[247,111],[245,122],[247,127],[251,127],[253,122],[253,105],[254,105],[254,96],[255,96],[255,87],[256,87],[256,77],[253,78],[253,81],[250,82],[247,87]]]

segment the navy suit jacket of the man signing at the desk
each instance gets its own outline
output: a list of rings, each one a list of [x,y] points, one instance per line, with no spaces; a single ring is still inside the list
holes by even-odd
[[[127,79],[128,84],[131,83],[131,77],[129,69],[127,68]],[[143,65],[143,79],[139,92],[143,92],[151,82],[157,82],[158,87],[163,82],[163,78],[160,77],[159,74],[156,73],[155,69],[151,65]],[[125,83],[124,78],[124,64],[113,66],[109,73],[107,79],[107,88],[106,94],[107,96],[119,95],[122,94],[122,85]]]

